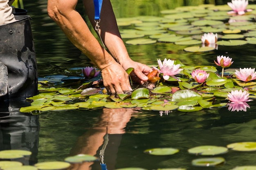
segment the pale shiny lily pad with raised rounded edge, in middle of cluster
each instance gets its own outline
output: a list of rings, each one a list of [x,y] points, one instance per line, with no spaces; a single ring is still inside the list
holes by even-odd
[[[191,90],[180,90],[173,93],[172,102],[182,102],[184,100],[200,100],[202,96]]]

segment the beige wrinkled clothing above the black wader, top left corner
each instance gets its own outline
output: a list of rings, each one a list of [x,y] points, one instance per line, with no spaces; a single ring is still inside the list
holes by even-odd
[[[16,21],[8,0],[0,0],[0,25]]]

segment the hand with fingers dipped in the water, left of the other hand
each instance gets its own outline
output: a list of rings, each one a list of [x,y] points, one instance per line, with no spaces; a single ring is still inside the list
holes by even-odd
[[[124,91],[132,91],[129,82],[129,76],[124,68],[117,62],[108,65],[101,70],[103,84],[108,93],[123,93]]]

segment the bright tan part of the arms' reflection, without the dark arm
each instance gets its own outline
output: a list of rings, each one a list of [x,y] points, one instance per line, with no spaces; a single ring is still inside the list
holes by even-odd
[[[70,155],[88,154],[96,155],[97,150],[103,144],[103,137],[106,135],[106,127],[108,126],[108,134],[123,134],[125,127],[134,111],[132,109],[103,108],[103,114],[100,121],[88,130],[84,135],[78,138]],[[89,166],[93,162],[85,162],[75,164],[72,170],[89,170]]]

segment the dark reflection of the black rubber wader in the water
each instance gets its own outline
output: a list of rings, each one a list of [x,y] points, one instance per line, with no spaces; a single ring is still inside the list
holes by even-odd
[[[20,113],[17,104],[5,103],[5,108],[0,108],[0,150],[28,150],[32,155],[15,161],[24,165],[37,163],[40,128],[38,117],[39,115]]]

